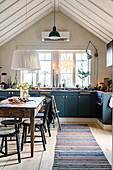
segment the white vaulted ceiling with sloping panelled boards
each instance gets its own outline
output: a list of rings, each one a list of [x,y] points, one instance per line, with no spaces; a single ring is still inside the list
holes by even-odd
[[[113,0],[56,0],[55,4],[56,10],[105,43],[113,39]],[[0,0],[0,46],[53,9],[54,0]]]

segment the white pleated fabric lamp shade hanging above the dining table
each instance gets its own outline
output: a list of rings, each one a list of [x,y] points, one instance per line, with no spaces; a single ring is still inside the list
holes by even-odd
[[[12,58],[12,70],[40,70],[40,60],[36,50],[15,50]]]

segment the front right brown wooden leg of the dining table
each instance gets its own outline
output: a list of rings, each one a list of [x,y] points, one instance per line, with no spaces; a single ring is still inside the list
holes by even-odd
[[[33,157],[33,154],[34,154],[34,130],[35,130],[34,120],[35,120],[35,113],[33,111],[33,113],[31,114],[31,117],[30,117],[31,157]]]

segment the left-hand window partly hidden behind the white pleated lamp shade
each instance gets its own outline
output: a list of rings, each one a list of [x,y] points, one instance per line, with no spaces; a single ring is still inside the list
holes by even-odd
[[[51,53],[39,52],[39,59],[41,70],[22,71],[22,82],[35,86],[40,82],[41,86],[51,86]]]

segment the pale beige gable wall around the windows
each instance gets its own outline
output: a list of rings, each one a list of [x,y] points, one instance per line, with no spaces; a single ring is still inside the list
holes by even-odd
[[[93,44],[98,49],[99,57],[98,57],[98,81],[103,81],[104,78],[111,78],[111,67],[106,68],[106,44],[95,37],[93,34],[85,30],[83,27],[69,19],[67,16],[63,15],[60,12],[56,13],[56,28],[58,31],[69,31],[70,32],[70,42],[69,43],[56,43],[56,42],[41,42],[41,32],[42,31],[50,31],[53,27],[53,13],[49,14],[32,27],[30,27],[27,31],[21,33],[5,45],[0,48],[0,66],[2,69],[0,72],[7,72],[8,75],[11,75],[12,81],[14,80],[15,71],[11,70],[11,60],[13,51],[15,49],[66,49],[66,50],[85,50],[86,46],[91,40]],[[92,54],[94,48],[92,46],[89,47],[92,50]],[[95,59],[95,67],[94,67],[94,59]],[[94,70],[96,71],[96,61],[97,58],[92,58],[92,85],[96,84],[96,75],[94,74]],[[58,60],[56,60],[58,61]],[[56,62],[55,61],[55,62]],[[19,73],[18,73],[19,75]],[[94,77],[95,76],[95,77]],[[18,76],[19,79],[19,76]]]

